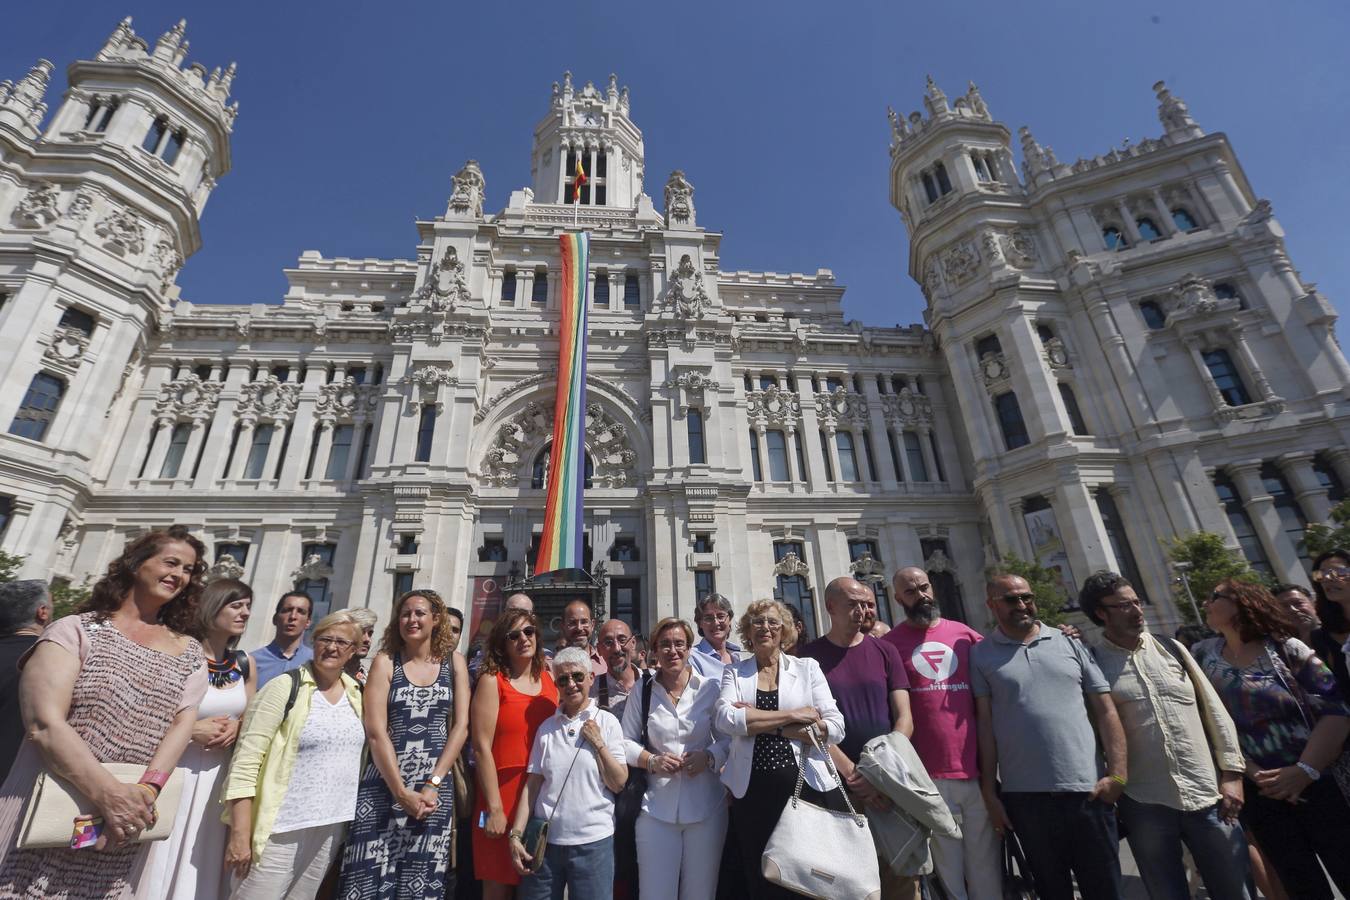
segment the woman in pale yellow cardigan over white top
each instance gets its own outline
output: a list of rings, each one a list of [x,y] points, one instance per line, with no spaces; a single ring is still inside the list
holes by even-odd
[[[315,626],[315,658],[248,706],[225,783],[235,900],[309,900],[356,810],[366,748],[360,687],[343,672],[362,640],[350,613]]]

